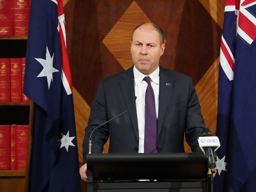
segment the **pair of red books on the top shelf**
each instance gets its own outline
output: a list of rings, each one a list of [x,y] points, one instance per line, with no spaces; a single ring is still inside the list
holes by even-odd
[[[0,0],[0,36],[27,36],[30,0]]]

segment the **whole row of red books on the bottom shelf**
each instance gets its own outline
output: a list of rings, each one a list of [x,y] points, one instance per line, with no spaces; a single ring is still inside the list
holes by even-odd
[[[0,170],[25,170],[28,125],[0,125]]]

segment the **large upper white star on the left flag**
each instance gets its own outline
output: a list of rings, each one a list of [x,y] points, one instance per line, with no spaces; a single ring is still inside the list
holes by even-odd
[[[46,46],[46,56],[45,56],[46,59],[35,58],[35,60],[37,60],[43,66],[43,70],[37,76],[37,78],[46,77],[49,90],[50,90],[50,84],[52,81],[52,73],[59,72],[59,70],[57,70],[56,68],[54,68],[52,66],[53,65],[53,56],[54,56],[54,53],[52,54],[52,57],[51,57],[48,47]]]

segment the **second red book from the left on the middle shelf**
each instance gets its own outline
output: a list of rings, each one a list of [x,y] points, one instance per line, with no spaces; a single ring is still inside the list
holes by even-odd
[[[21,102],[21,58],[11,58],[11,102]]]

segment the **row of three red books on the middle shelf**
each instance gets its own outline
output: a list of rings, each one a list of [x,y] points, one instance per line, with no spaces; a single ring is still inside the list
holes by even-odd
[[[26,58],[0,58],[0,103],[30,102],[23,94]]]

